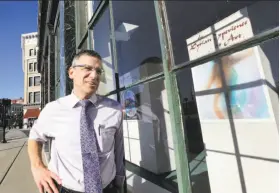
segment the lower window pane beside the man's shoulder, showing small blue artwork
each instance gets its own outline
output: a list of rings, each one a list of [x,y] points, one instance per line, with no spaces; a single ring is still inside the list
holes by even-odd
[[[128,170],[164,186],[151,185],[147,192],[167,192],[164,188],[177,192],[174,145],[163,79],[132,87],[120,96]],[[138,180],[141,183],[140,177],[131,177],[134,179],[129,179],[128,185],[136,189],[143,187],[137,186]],[[130,184],[133,181],[134,184]]]

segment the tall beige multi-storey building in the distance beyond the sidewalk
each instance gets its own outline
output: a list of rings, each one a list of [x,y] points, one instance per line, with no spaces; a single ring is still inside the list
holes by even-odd
[[[37,119],[41,106],[41,75],[37,68],[37,40],[37,32],[21,35],[25,128]]]

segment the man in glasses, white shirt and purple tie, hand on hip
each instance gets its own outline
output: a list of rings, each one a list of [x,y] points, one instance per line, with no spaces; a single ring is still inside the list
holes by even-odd
[[[41,193],[115,193],[122,188],[122,111],[116,101],[96,94],[101,60],[95,51],[76,54],[69,69],[72,93],[48,103],[30,131],[31,170]],[[53,140],[47,168],[41,150],[48,137]]]

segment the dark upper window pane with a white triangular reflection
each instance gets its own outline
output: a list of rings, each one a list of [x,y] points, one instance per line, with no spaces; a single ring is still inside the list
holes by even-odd
[[[120,85],[162,72],[154,2],[112,1],[112,6]]]

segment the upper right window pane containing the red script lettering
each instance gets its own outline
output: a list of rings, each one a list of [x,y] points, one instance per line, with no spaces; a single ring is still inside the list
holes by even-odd
[[[278,1],[166,1],[166,9],[176,65],[279,26]]]

